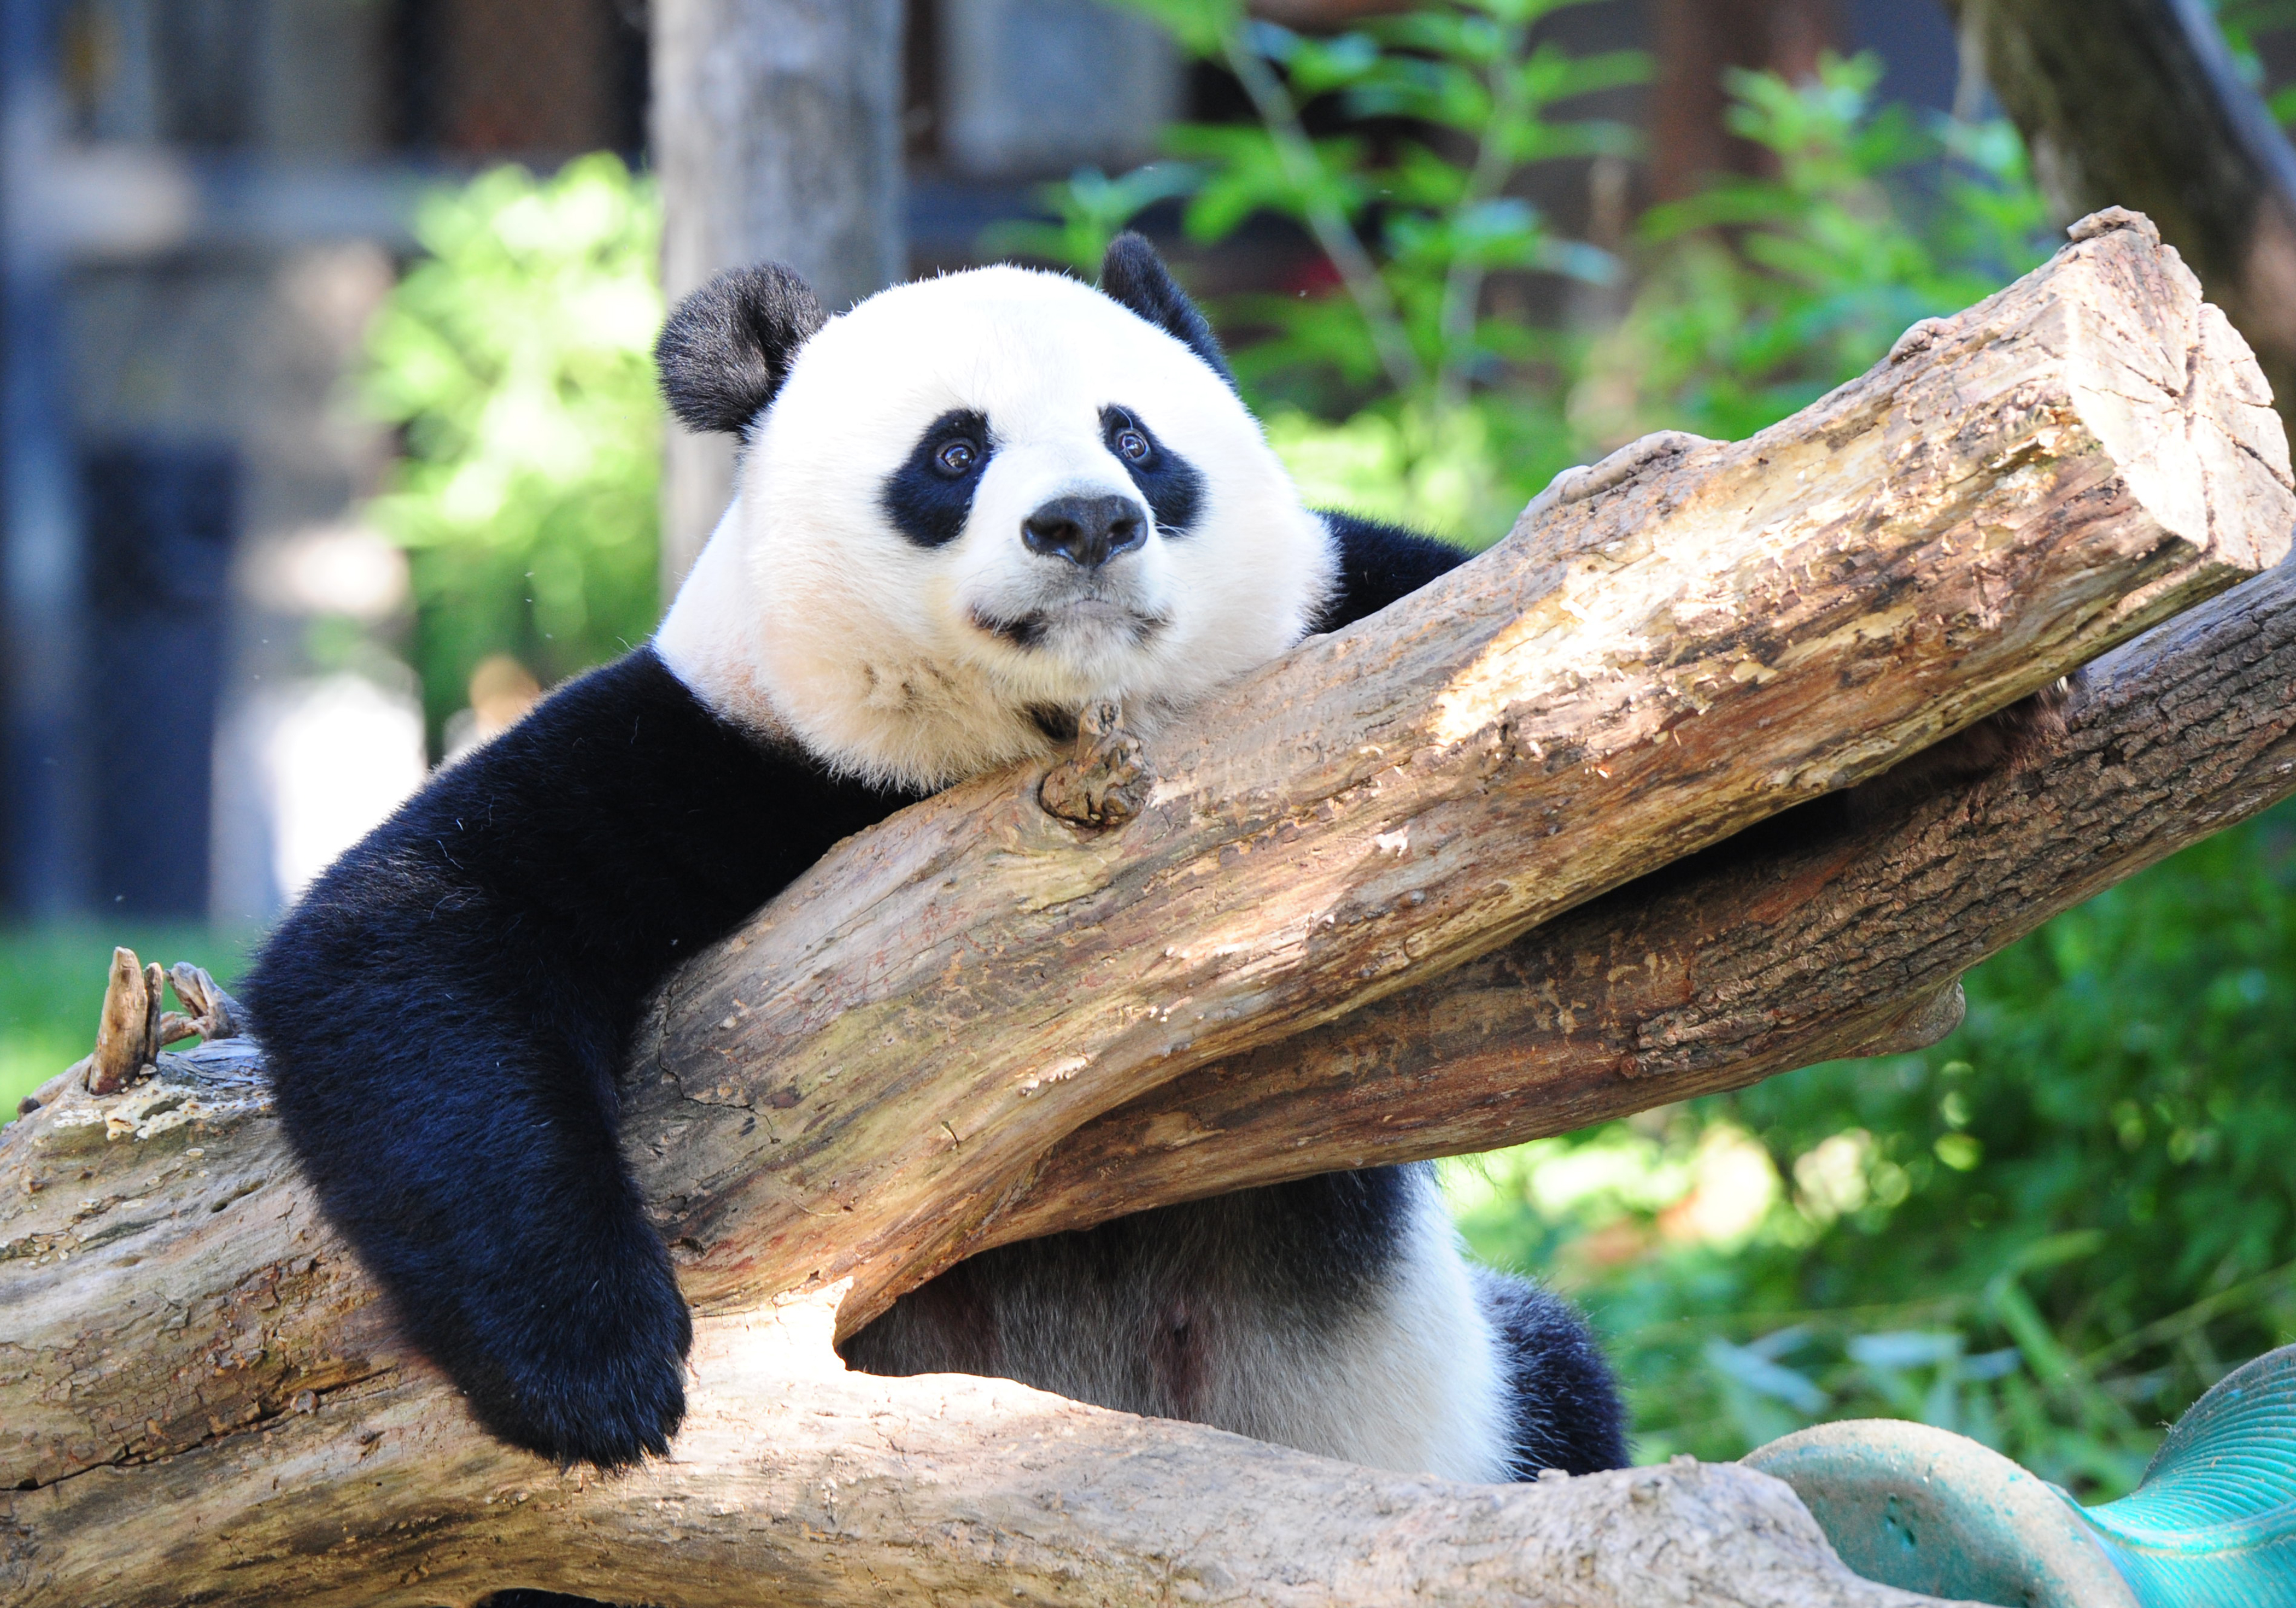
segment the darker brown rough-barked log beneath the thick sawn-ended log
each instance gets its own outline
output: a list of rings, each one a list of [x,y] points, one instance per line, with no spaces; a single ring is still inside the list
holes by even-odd
[[[1784,815],[1433,983],[1176,1077],[1054,1149],[967,1250],[1936,1043],[1968,967],[2289,793],[2282,563],[2082,671],[2064,730],[2011,770],[1871,818]]]

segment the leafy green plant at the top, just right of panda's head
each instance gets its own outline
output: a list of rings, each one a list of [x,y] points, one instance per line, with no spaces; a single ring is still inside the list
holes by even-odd
[[[1536,363],[1543,345],[1513,319],[1488,317],[1492,273],[1607,280],[1616,264],[1552,232],[1508,193],[1515,175],[1561,156],[1632,154],[1632,129],[1559,117],[1557,106],[1637,83],[1635,51],[1573,57],[1534,46],[1534,25],[1564,0],[1469,0],[1309,39],[1272,23],[1231,32],[1221,55],[1244,80],[1261,126],[1182,126],[1173,149],[1205,179],[1187,232],[1217,241],[1258,211],[1302,223],[1341,283],[1327,296],[1272,296],[1238,308],[1267,335],[1240,363],[1263,386],[1288,384],[1311,404],[1384,388],[1456,407],[1469,388]],[[1306,138],[1302,113],[1334,96],[1380,138]],[[1359,264],[1355,262],[1359,260]]]

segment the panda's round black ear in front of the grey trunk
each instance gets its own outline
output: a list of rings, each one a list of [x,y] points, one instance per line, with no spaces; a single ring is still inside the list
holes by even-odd
[[[654,342],[661,395],[689,430],[742,434],[829,315],[778,262],[728,269],[677,303]]]

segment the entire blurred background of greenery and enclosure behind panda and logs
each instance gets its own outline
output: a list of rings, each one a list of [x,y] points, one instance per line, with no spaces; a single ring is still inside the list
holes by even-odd
[[[2296,0],[2167,9],[2282,161]],[[7,1110],[115,942],[230,979],[645,639],[728,476],[647,351],[716,269],[838,308],[1141,227],[1311,501],[1481,547],[2041,262],[2080,152],[1986,60],[1938,0],[0,0]],[[1931,1052],[1446,1165],[1460,1224],[1587,1302],[1642,1459],[1903,1415],[2126,1491],[2296,1339],[2291,832],[2002,953]]]

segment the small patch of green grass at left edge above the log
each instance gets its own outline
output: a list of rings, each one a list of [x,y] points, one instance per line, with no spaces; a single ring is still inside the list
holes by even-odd
[[[145,960],[191,960],[230,985],[250,935],[197,926],[51,926],[0,933],[0,1121],[96,1045],[113,944]]]

